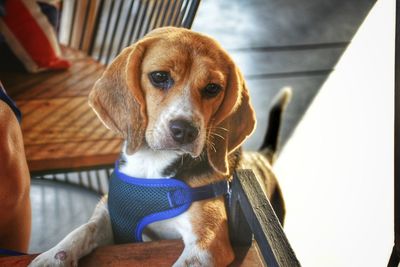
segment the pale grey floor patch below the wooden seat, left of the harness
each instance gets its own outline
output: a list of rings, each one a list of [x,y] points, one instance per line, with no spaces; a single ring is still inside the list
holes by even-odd
[[[56,245],[72,229],[87,221],[100,197],[73,185],[32,180],[32,236],[29,251]]]

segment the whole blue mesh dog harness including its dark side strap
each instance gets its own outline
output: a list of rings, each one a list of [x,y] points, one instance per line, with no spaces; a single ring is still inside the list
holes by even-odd
[[[119,172],[117,162],[108,193],[114,241],[142,242],[142,232],[150,223],[176,217],[189,209],[195,201],[227,193],[227,181],[191,188],[173,178],[130,177]]]

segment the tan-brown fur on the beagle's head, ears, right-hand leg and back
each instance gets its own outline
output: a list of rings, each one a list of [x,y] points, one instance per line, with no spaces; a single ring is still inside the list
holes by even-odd
[[[148,73],[157,70],[171,73],[173,90],[154,88]],[[224,89],[216,97],[204,99],[201,90],[208,83],[220,84]],[[230,179],[239,167],[239,146],[253,132],[256,122],[239,69],[213,39],[186,29],[154,30],[114,60],[94,86],[89,102],[104,124],[127,140],[128,153],[134,153],[145,143],[146,129],[152,129],[154,118],[164,106],[180,97],[185,87],[191,88],[190,101],[206,124],[207,142],[202,153],[206,154],[209,169],[180,178],[191,186]],[[240,166],[248,163],[242,162]],[[271,197],[279,188],[269,163],[263,168],[266,171],[259,175],[263,176],[264,189]],[[193,231],[199,237],[198,246],[209,251],[215,266],[232,262],[223,199],[194,203],[189,214]]]

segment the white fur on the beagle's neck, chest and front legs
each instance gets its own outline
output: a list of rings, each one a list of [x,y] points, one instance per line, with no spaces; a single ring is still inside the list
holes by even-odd
[[[161,178],[162,170],[179,156],[173,151],[154,151],[148,148],[142,148],[133,155],[127,155],[124,151],[125,149],[123,154],[126,163],[120,171],[126,175],[143,178]],[[185,261],[194,257],[201,266],[212,265],[208,252],[196,245],[197,238],[193,234],[186,212],[149,225],[145,229],[143,239],[150,241],[153,236],[160,239],[183,239],[185,249],[174,266],[186,266]],[[76,266],[80,258],[96,247],[112,243],[111,221],[104,198],[97,205],[88,223],[75,229],[49,251],[39,255],[29,266]]]

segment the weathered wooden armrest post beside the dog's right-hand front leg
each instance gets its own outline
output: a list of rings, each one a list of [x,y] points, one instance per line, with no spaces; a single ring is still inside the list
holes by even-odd
[[[271,203],[251,170],[235,173],[229,209],[233,245],[250,246],[254,238],[268,266],[300,266]]]

